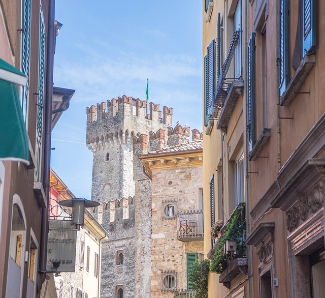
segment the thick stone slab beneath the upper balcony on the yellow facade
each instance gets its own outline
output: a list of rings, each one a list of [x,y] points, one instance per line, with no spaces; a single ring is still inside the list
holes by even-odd
[[[227,133],[229,121],[233,115],[239,97],[243,96],[243,90],[243,80],[235,80],[230,87],[217,122],[217,129],[221,130],[223,133]]]

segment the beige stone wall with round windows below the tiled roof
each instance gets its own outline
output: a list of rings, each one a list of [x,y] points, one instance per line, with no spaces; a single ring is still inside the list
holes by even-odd
[[[171,292],[161,292],[161,272],[177,272],[177,289],[187,288],[188,252],[203,252],[203,241],[177,240],[177,219],[161,218],[163,200],[175,200],[178,211],[197,210],[199,189],[202,188],[202,166],[153,170],[152,172],[152,297],[174,297]]]

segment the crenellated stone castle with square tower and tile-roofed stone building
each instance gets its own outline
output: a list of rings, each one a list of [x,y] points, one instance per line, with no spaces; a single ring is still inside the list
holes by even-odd
[[[146,114],[146,101],[126,96],[107,105],[87,108],[94,216],[110,234],[101,296],[192,294],[187,268],[203,253],[201,133],[189,142],[166,106],[150,103]]]

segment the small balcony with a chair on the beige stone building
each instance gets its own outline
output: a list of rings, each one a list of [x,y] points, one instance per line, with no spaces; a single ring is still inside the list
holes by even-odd
[[[203,211],[190,210],[177,213],[177,239],[179,241],[203,240]]]

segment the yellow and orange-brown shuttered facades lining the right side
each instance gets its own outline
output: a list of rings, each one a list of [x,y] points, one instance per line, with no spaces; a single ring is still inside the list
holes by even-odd
[[[324,292],[324,10],[314,0],[203,2],[209,297]]]

